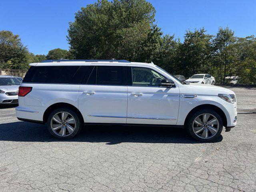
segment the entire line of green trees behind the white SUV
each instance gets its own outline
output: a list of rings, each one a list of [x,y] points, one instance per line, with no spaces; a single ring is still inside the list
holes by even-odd
[[[228,27],[216,36],[204,28],[187,30],[184,42],[163,35],[155,23],[156,10],[146,0],[98,0],[82,7],[69,23],[70,50],[45,55],[28,52],[18,35],[0,31],[0,68],[27,69],[45,59],[126,59],[154,62],[171,74],[186,78],[209,73],[216,83],[238,76],[241,84],[256,84],[256,38],[239,38]]]

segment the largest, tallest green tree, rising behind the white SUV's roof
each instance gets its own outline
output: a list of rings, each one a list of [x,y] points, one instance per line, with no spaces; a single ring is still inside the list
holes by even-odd
[[[146,0],[98,0],[76,13],[68,42],[77,59],[149,61],[159,49],[155,9]]]

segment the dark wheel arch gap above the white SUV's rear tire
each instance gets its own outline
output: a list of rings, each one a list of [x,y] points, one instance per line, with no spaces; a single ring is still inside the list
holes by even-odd
[[[60,103],[55,103],[55,104],[52,104],[51,106],[49,106],[45,112],[44,112],[44,115],[43,115],[43,123],[46,123],[47,122],[47,119],[48,119],[48,116],[50,115],[50,113],[55,110],[55,109],[58,109],[58,108],[70,108],[72,110],[74,110],[78,116],[84,121],[84,118],[82,116],[82,113],[78,110],[78,108],[76,108],[74,105],[72,104],[69,104],[69,103],[64,103],[64,102],[60,102]]]

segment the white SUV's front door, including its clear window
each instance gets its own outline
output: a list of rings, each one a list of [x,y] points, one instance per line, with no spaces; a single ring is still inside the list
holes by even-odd
[[[175,125],[180,102],[178,86],[160,87],[160,81],[166,77],[154,68],[128,67],[128,70],[132,73],[132,83],[128,86],[127,123]]]

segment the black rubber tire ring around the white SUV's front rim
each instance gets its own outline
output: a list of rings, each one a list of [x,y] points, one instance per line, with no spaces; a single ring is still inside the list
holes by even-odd
[[[194,123],[195,118],[197,116],[199,116],[200,114],[204,114],[204,113],[212,114],[219,121],[219,130],[218,130],[218,132],[212,138],[208,138],[208,139],[203,139],[203,138],[198,137],[193,131],[193,123]],[[202,110],[199,110],[197,112],[194,112],[194,113],[190,114],[190,117],[188,117],[188,119],[186,120],[185,128],[186,128],[186,131],[188,132],[188,134],[190,136],[192,136],[192,138],[194,138],[198,141],[202,141],[202,142],[209,142],[209,141],[216,140],[220,136],[220,134],[222,132],[222,128],[223,128],[223,122],[222,122],[222,118],[220,117],[220,115],[216,111],[214,111],[212,109],[202,109]]]

